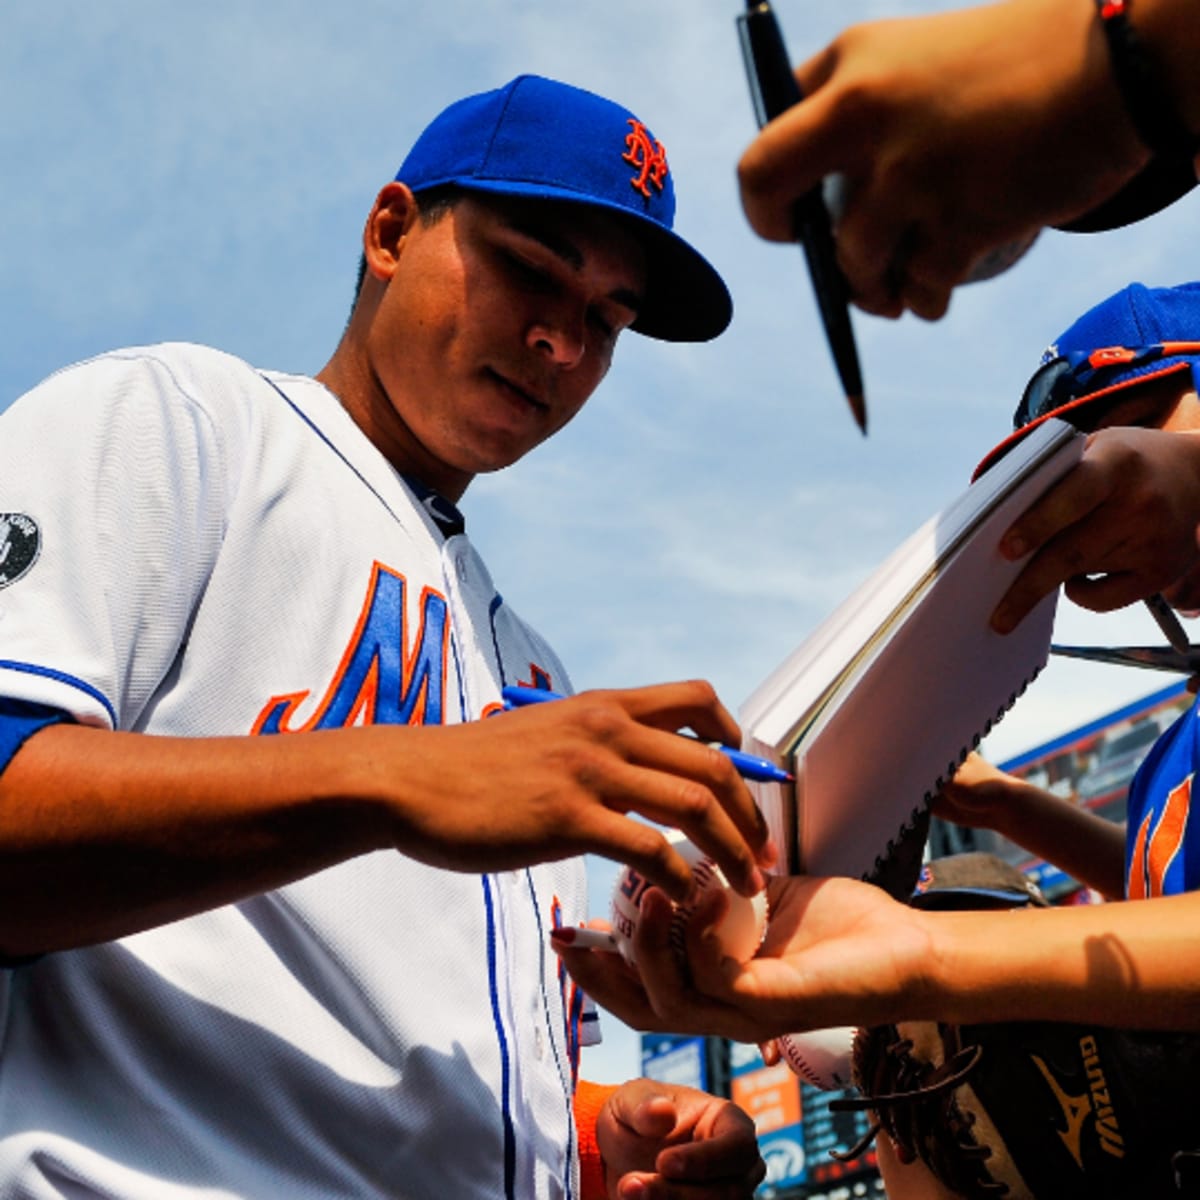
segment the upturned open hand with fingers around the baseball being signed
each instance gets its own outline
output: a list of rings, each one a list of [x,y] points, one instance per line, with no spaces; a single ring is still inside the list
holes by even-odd
[[[930,964],[923,914],[848,878],[773,877],[767,894],[767,937],[746,964],[725,958],[712,936],[728,902],[720,892],[688,923],[685,962],[672,952],[671,905],[654,889],[634,935],[636,971],[617,954],[556,949],[596,1003],[641,1030],[762,1043],[895,1020],[918,1001]]]

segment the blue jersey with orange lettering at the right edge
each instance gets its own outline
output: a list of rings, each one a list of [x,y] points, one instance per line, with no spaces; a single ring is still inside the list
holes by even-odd
[[[1190,828],[1200,764],[1200,710],[1193,703],[1156,743],[1129,785],[1126,895],[1130,900],[1200,890],[1200,829]]]

